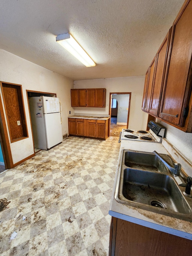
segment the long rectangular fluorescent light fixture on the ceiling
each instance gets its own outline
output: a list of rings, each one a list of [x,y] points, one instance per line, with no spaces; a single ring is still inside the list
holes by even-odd
[[[69,34],[58,35],[56,41],[61,44],[68,52],[77,58],[86,67],[94,67],[95,62],[88,56],[75,39]]]

